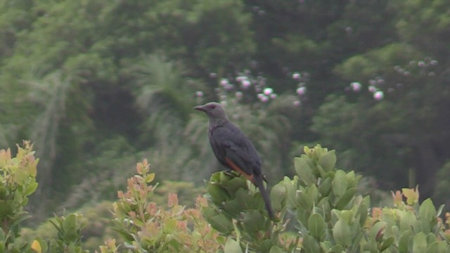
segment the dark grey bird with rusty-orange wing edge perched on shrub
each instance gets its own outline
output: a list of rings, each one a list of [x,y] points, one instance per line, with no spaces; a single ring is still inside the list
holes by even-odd
[[[265,179],[261,169],[261,157],[259,157],[255,145],[238,126],[229,121],[220,103],[210,102],[205,105],[197,105],[193,109],[205,112],[210,120],[208,137],[212,151],[219,163],[228,169],[237,171],[257,186],[270,219],[275,220],[269,194],[264,188],[263,181]]]

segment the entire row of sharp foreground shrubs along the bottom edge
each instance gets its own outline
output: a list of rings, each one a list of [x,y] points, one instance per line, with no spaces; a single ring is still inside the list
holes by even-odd
[[[82,235],[92,238],[89,231],[99,229],[117,237],[99,247],[102,253],[450,250],[450,214],[440,217],[444,205],[436,209],[429,198],[420,203],[418,188],[403,188],[392,192],[393,207],[371,207],[370,197],[356,193],[361,176],[336,169],[335,151],[320,145],[304,147],[304,154],[295,157],[293,179],[285,176],[271,189],[274,221],[257,188],[233,172],[213,174],[206,197],[198,196],[193,208],[179,205],[175,193],[162,207],[151,201],[158,183],[152,184],[155,173],[143,160],[112,205],[117,233],[108,232],[98,216],[75,213],[54,216],[41,232],[20,236],[27,196],[37,188],[38,161],[28,141],[16,157],[9,149],[0,151],[1,252],[89,252]],[[101,206],[108,213],[110,205]]]

